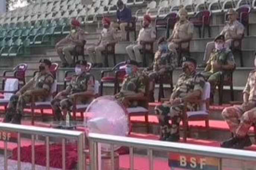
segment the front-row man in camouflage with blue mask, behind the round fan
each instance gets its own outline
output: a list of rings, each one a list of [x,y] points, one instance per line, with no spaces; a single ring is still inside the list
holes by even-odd
[[[136,107],[137,102],[130,102],[126,97],[142,97],[145,95],[145,78],[138,72],[138,63],[136,61],[127,61],[124,66],[126,76],[121,85],[121,90],[115,95],[116,99],[121,101],[126,107]]]

